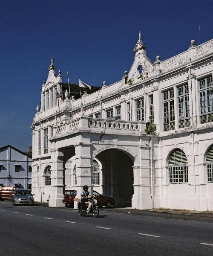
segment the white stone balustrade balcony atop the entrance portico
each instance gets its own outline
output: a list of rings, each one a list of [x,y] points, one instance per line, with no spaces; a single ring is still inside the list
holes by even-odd
[[[79,132],[114,134],[114,135],[145,135],[146,122],[133,122],[111,119],[96,119],[81,116],[72,122],[57,124],[52,139],[59,139]]]

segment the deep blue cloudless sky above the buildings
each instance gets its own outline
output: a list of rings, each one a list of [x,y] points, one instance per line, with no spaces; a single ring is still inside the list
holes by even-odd
[[[121,79],[141,30],[155,61],[213,38],[212,0],[7,0],[0,8],[0,146],[28,151],[50,59],[72,83]]]

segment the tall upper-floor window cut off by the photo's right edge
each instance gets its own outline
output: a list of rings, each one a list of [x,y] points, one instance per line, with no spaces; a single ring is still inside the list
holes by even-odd
[[[200,123],[213,122],[213,79],[212,76],[199,80]]]

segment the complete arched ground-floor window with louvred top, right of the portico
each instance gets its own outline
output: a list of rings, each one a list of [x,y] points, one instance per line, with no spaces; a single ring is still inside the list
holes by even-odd
[[[176,149],[169,158],[170,183],[187,183],[188,166],[187,157],[181,149]]]

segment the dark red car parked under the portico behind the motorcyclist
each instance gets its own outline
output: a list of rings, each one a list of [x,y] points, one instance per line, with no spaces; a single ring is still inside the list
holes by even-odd
[[[70,195],[65,195],[63,197],[62,202],[65,204],[66,207],[68,205],[71,206],[71,207],[74,207],[73,199],[75,198],[76,194],[77,194],[77,192],[75,190]],[[108,196],[101,195],[96,191],[93,191],[93,195],[96,196],[98,207],[106,206],[107,208],[109,208],[109,207],[111,207],[112,205],[115,204],[115,199],[114,198],[110,198]]]

